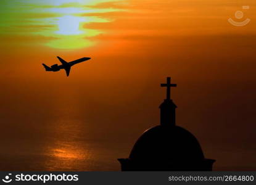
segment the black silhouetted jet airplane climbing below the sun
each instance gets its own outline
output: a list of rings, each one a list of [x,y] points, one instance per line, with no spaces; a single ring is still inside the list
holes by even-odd
[[[51,67],[49,67],[49,66],[43,64],[43,66],[44,66],[46,72],[57,72],[57,71],[59,71],[59,70],[61,70],[61,69],[64,69],[64,70],[66,71],[67,76],[68,76],[68,75],[69,75],[69,72],[70,72],[70,68],[71,68],[73,65],[91,59],[91,58],[89,58],[89,57],[83,57],[83,58],[81,58],[81,59],[74,60],[74,61],[72,61],[72,62],[66,62],[65,60],[63,60],[63,59],[60,58],[60,57],[57,57],[57,58],[60,60],[60,62],[62,63],[62,65],[54,64],[54,65],[52,65]]]

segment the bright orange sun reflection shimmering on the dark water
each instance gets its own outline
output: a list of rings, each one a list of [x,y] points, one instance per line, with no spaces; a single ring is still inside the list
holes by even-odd
[[[90,165],[92,154],[89,145],[80,136],[79,124],[75,121],[65,121],[61,125],[56,123],[52,142],[45,150],[46,170],[81,170],[86,169],[86,164]]]

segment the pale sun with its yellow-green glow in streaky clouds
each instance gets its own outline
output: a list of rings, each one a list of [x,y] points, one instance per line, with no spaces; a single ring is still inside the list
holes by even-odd
[[[86,28],[86,25],[112,22],[113,20],[101,14],[120,11],[120,9],[98,6],[102,2],[111,0],[14,1],[21,8],[17,10],[14,6],[6,6],[8,21],[1,20],[0,27],[4,26],[2,33],[10,33],[13,31],[12,27],[19,27],[19,31],[14,34],[44,36],[49,39],[41,44],[57,49],[93,46],[96,42],[92,38],[104,33],[104,30]],[[9,1],[5,3],[8,5]]]

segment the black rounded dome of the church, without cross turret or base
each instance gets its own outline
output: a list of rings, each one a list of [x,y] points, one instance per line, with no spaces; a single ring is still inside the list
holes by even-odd
[[[197,139],[180,126],[158,125],[146,130],[134,144],[131,160],[168,163],[204,160]]]

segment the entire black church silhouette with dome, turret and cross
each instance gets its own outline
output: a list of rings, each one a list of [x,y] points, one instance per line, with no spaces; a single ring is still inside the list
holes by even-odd
[[[134,144],[129,158],[118,158],[122,171],[212,171],[215,160],[204,157],[199,142],[189,131],[175,125],[177,106],[170,99],[171,78],[167,78],[167,99],[160,105],[160,125],[146,130]]]

